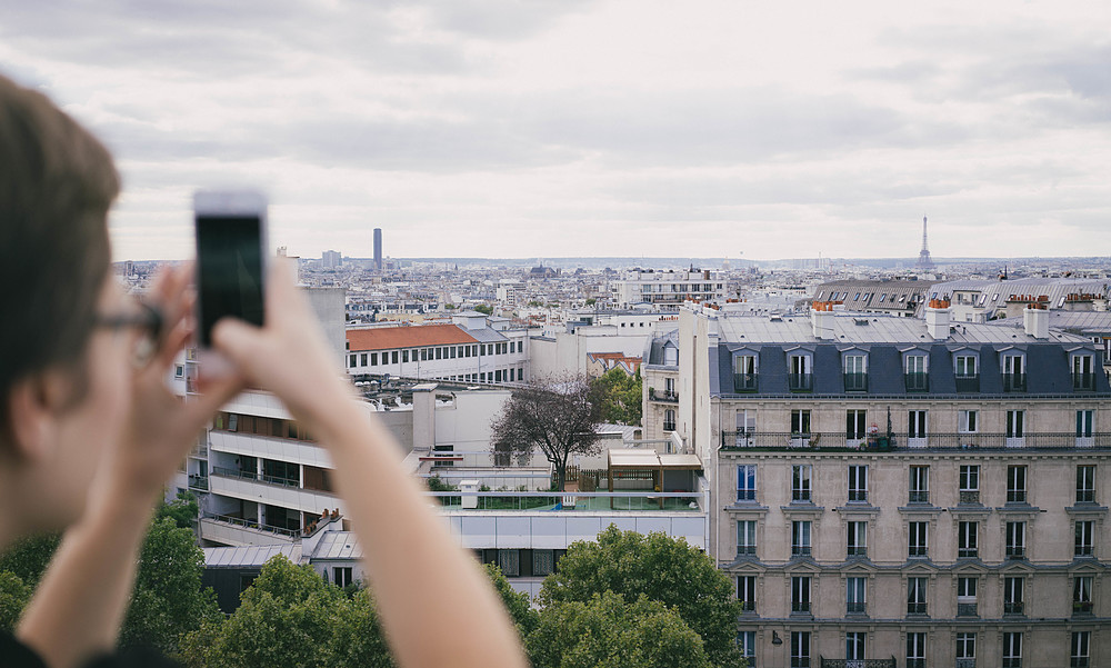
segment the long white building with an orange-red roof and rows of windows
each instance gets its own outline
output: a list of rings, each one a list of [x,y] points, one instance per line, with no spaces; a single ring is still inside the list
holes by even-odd
[[[353,377],[523,382],[531,378],[527,342],[508,320],[464,311],[451,325],[349,327],[344,366]]]

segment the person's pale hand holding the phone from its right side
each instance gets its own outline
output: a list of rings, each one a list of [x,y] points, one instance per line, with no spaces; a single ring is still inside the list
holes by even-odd
[[[263,327],[223,318],[212,330],[212,342],[249,385],[278,395],[313,430],[352,393],[316,313],[297,290],[290,261],[274,261],[267,278]]]

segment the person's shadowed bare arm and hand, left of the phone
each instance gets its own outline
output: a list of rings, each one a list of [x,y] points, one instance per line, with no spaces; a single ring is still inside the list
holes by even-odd
[[[180,268],[152,287],[169,332],[137,371],[127,430],[100,463],[84,515],[62,538],[17,628],[50,668],[80,666],[116,648],[154,501],[204,423],[239,391],[240,381],[229,378],[186,403],[166,387],[190,333],[188,281],[189,269]]]

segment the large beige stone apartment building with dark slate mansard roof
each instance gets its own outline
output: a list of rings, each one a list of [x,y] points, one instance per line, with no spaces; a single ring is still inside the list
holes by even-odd
[[[675,436],[751,665],[1111,664],[1111,387],[1037,306],[1021,330],[937,300],[681,312]]]

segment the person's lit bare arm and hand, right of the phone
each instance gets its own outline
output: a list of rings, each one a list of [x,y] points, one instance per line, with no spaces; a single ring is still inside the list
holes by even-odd
[[[402,469],[392,435],[357,403],[289,268],[276,265],[266,326],[221,321],[216,346],[253,385],[278,395],[331,453],[337,491],[363,546],[398,662],[406,668],[527,666],[486,575]]]

